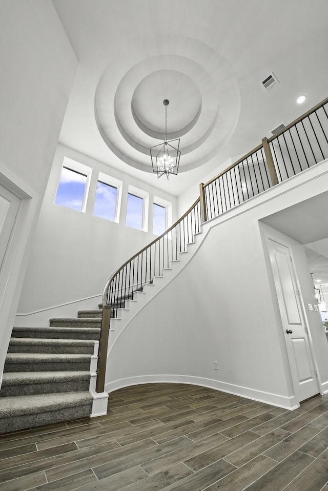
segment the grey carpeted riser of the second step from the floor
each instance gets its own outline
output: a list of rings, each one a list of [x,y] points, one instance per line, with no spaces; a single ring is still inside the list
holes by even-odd
[[[0,397],[30,396],[32,394],[53,394],[55,392],[88,391],[90,378],[88,380],[70,380],[56,383],[29,383],[17,385],[3,385]]]

